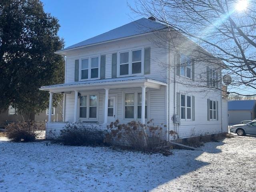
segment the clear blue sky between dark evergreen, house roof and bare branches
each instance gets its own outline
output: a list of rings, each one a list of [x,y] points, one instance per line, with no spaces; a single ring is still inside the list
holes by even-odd
[[[59,20],[65,47],[139,19],[126,0],[42,0],[44,10]],[[133,0],[128,0],[134,4]]]

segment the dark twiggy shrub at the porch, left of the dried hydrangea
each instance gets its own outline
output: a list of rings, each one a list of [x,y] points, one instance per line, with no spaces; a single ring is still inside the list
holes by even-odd
[[[71,146],[100,145],[104,143],[104,132],[96,127],[86,127],[82,123],[67,124],[57,141]]]

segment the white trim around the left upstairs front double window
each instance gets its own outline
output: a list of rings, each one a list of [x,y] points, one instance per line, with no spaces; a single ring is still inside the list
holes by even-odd
[[[92,68],[91,66],[91,59],[98,57],[98,78],[91,78],[91,70],[96,68]],[[88,59],[88,79],[82,79],[82,60]],[[97,80],[100,79],[100,55],[93,55],[88,57],[80,58],[79,62],[79,81],[88,81],[88,80]]]

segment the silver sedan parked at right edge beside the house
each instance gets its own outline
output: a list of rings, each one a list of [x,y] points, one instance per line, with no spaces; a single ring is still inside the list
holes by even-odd
[[[253,120],[247,124],[233,125],[230,128],[231,133],[236,133],[240,136],[250,134],[256,135],[256,120]]]

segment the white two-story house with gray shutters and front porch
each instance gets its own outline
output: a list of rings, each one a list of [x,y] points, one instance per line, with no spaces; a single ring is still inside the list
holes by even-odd
[[[106,129],[117,119],[122,123],[154,119],[180,138],[226,132],[227,107],[221,91],[202,94],[179,83],[196,82],[207,72],[207,84],[212,84],[214,76],[208,70],[214,67],[181,65],[190,55],[168,48],[169,40],[166,46],[156,43],[164,38],[156,34],[167,31],[154,18],[141,18],[56,51],[66,58],[65,83],[40,90],[49,92],[50,109],[53,94],[64,94],[64,122],[52,122],[49,116],[46,137],[58,134],[68,122]]]

